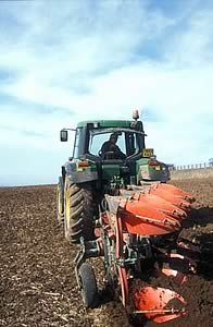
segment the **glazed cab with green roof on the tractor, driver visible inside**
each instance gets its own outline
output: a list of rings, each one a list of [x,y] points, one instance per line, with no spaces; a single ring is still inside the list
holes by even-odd
[[[104,161],[141,156],[145,135],[141,122],[80,122],[76,129],[73,158],[86,156],[93,161]]]

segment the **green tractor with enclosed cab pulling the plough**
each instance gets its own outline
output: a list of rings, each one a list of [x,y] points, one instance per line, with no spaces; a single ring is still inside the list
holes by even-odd
[[[142,121],[135,110],[133,120],[83,121],[77,124],[73,157],[62,166],[58,183],[58,219],[64,221],[71,243],[95,239],[96,220],[104,195],[145,181],[166,182],[170,171],[146,148]],[[61,131],[66,142],[68,130]]]

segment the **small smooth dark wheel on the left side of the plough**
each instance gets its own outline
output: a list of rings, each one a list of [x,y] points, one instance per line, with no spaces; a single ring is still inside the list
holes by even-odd
[[[84,263],[79,270],[80,293],[86,307],[95,307],[98,304],[98,288],[93,268],[90,264]]]

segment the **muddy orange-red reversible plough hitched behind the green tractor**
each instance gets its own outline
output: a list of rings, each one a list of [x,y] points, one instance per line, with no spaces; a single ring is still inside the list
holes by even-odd
[[[185,246],[178,234],[192,202],[190,194],[161,183],[123,190],[118,196],[105,195],[96,229],[97,239],[82,240],[82,250],[76,257],[76,276],[85,304],[97,305],[97,291],[91,296],[91,290],[85,287],[83,266],[88,257],[103,256],[106,283],[111,290],[118,288],[123,305],[130,307],[134,314],[155,323],[185,315],[186,303],[179,294],[146,284],[142,277],[145,274],[163,274],[180,284],[187,274],[196,272],[192,259],[172,251]],[[95,275],[88,272],[87,276],[96,289]],[[141,286],[134,287],[135,280],[141,280]]]

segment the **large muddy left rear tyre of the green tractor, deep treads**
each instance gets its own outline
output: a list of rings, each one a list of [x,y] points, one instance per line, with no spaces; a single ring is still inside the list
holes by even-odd
[[[93,207],[91,185],[71,183],[66,177],[64,231],[71,243],[79,243],[80,237],[86,241],[93,239]]]

